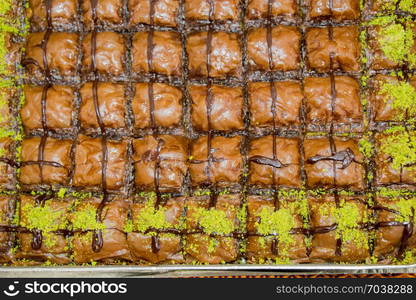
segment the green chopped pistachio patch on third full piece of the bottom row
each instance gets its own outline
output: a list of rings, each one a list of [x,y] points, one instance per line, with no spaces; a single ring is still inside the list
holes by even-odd
[[[160,207],[159,209],[156,209],[154,206],[154,201],[149,200],[140,210],[137,218],[133,220],[134,225],[140,232],[145,232],[149,228],[171,228],[172,224],[166,221],[165,212],[166,208]]]

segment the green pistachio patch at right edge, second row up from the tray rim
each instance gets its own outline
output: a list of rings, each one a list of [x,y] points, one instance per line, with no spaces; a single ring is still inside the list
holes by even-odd
[[[381,151],[392,158],[392,167],[399,170],[402,167],[415,168],[416,164],[416,134],[406,131],[402,126],[386,130],[390,133],[381,144]]]

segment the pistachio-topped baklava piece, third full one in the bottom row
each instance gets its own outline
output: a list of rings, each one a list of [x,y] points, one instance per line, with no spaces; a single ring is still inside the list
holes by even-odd
[[[170,198],[155,206],[152,198],[139,197],[131,207],[127,241],[135,260],[148,263],[184,261],[180,231],[183,229],[184,198]]]

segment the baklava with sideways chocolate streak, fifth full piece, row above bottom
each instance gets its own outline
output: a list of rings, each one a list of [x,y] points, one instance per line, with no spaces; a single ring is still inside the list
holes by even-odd
[[[251,184],[273,187],[301,184],[298,139],[275,136],[254,139],[250,142],[248,160]]]

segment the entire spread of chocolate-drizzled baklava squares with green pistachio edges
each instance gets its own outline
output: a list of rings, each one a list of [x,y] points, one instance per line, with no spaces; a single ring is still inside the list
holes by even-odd
[[[2,264],[416,263],[414,1],[3,2]]]

